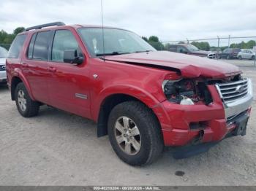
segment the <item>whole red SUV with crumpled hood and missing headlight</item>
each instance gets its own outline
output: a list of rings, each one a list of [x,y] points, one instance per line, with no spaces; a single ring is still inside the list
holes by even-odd
[[[252,104],[236,66],[156,51],[119,28],[59,22],[16,36],[7,81],[23,117],[47,104],[94,120],[130,165],[152,163],[164,146],[185,146],[173,155],[188,157],[244,136]]]

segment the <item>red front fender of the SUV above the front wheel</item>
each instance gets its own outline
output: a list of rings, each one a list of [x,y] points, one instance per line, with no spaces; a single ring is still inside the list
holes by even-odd
[[[99,58],[91,58],[90,62],[91,116],[93,120],[97,121],[99,108],[105,98],[110,95],[130,95],[138,98],[149,108],[166,100],[162,92],[162,81],[165,75],[172,71],[103,61]],[[95,75],[97,78],[94,78]]]

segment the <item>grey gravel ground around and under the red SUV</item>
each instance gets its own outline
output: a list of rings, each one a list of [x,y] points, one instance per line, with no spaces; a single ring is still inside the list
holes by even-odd
[[[256,90],[256,67],[248,63],[236,61]],[[183,160],[166,151],[143,168],[119,160],[108,137],[97,138],[91,120],[48,106],[23,118],[4,86],[0,101],[1,185],[256,185],[255,101],[246,136]]]

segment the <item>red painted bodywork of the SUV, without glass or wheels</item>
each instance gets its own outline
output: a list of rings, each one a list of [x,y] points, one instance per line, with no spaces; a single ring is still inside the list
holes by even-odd
[[[208,86],[214,99],[213,104],[182,106],[166,100],[162,82],[165,79],[181,77],[225,78],[241,73],[236,66],[173,52],[108,56],[106,59],[111,61],[103,61],[100,58],[91,58],[88,54],[76,31],[79,27],[81,26],[61,26],[58,29],[72,31],[85,57],[82,64],[74,66],[69,63],[29,60],[25,47],[28,47],[34,31],[24,32],[28,36],[20,58],[7,59],[8,84],[11,85],[14,77],[19,77],[34,100],[94,121],[97,121],[99,108],[108,96],[118,93],[131,95],[154,111],[167,146],[187,144],[198,135],[199,130],[189,130],[190,122],[206,122],[203,141],[218,141],[230,131],[226,127],[222,101],[213,85]],[[40,31],[46,30],[49,28]],[[180,74],[124,62],[171,67],[180,71]],[[96,79],[94,74],[98,76]],[[75,93],[87,95],[88,98],[76,98]]]

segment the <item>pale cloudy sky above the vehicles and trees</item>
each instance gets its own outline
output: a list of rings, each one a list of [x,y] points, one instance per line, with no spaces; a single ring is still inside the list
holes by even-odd
[[[100,0],[0,0],[0,30],[62,21],[101,25]],[[255,0],[102,0],[105,26],[161,41],[256,36]],[[246,40],[245,40],[246,41]],[[215,42],[215,41],[214,41]],[[227,40],[223,40],[223,43]]]

